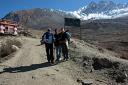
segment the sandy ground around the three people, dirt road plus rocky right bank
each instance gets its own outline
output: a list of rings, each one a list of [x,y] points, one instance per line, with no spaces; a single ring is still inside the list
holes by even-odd
[[[72,39],[70,60],[56,65],[46,63],[40,39],[17,37],[23,46],[13,57],[0,63],[1,85],[127,85],[128,61],[118,54]],[[117,75],[118,74],[118,75]]]

